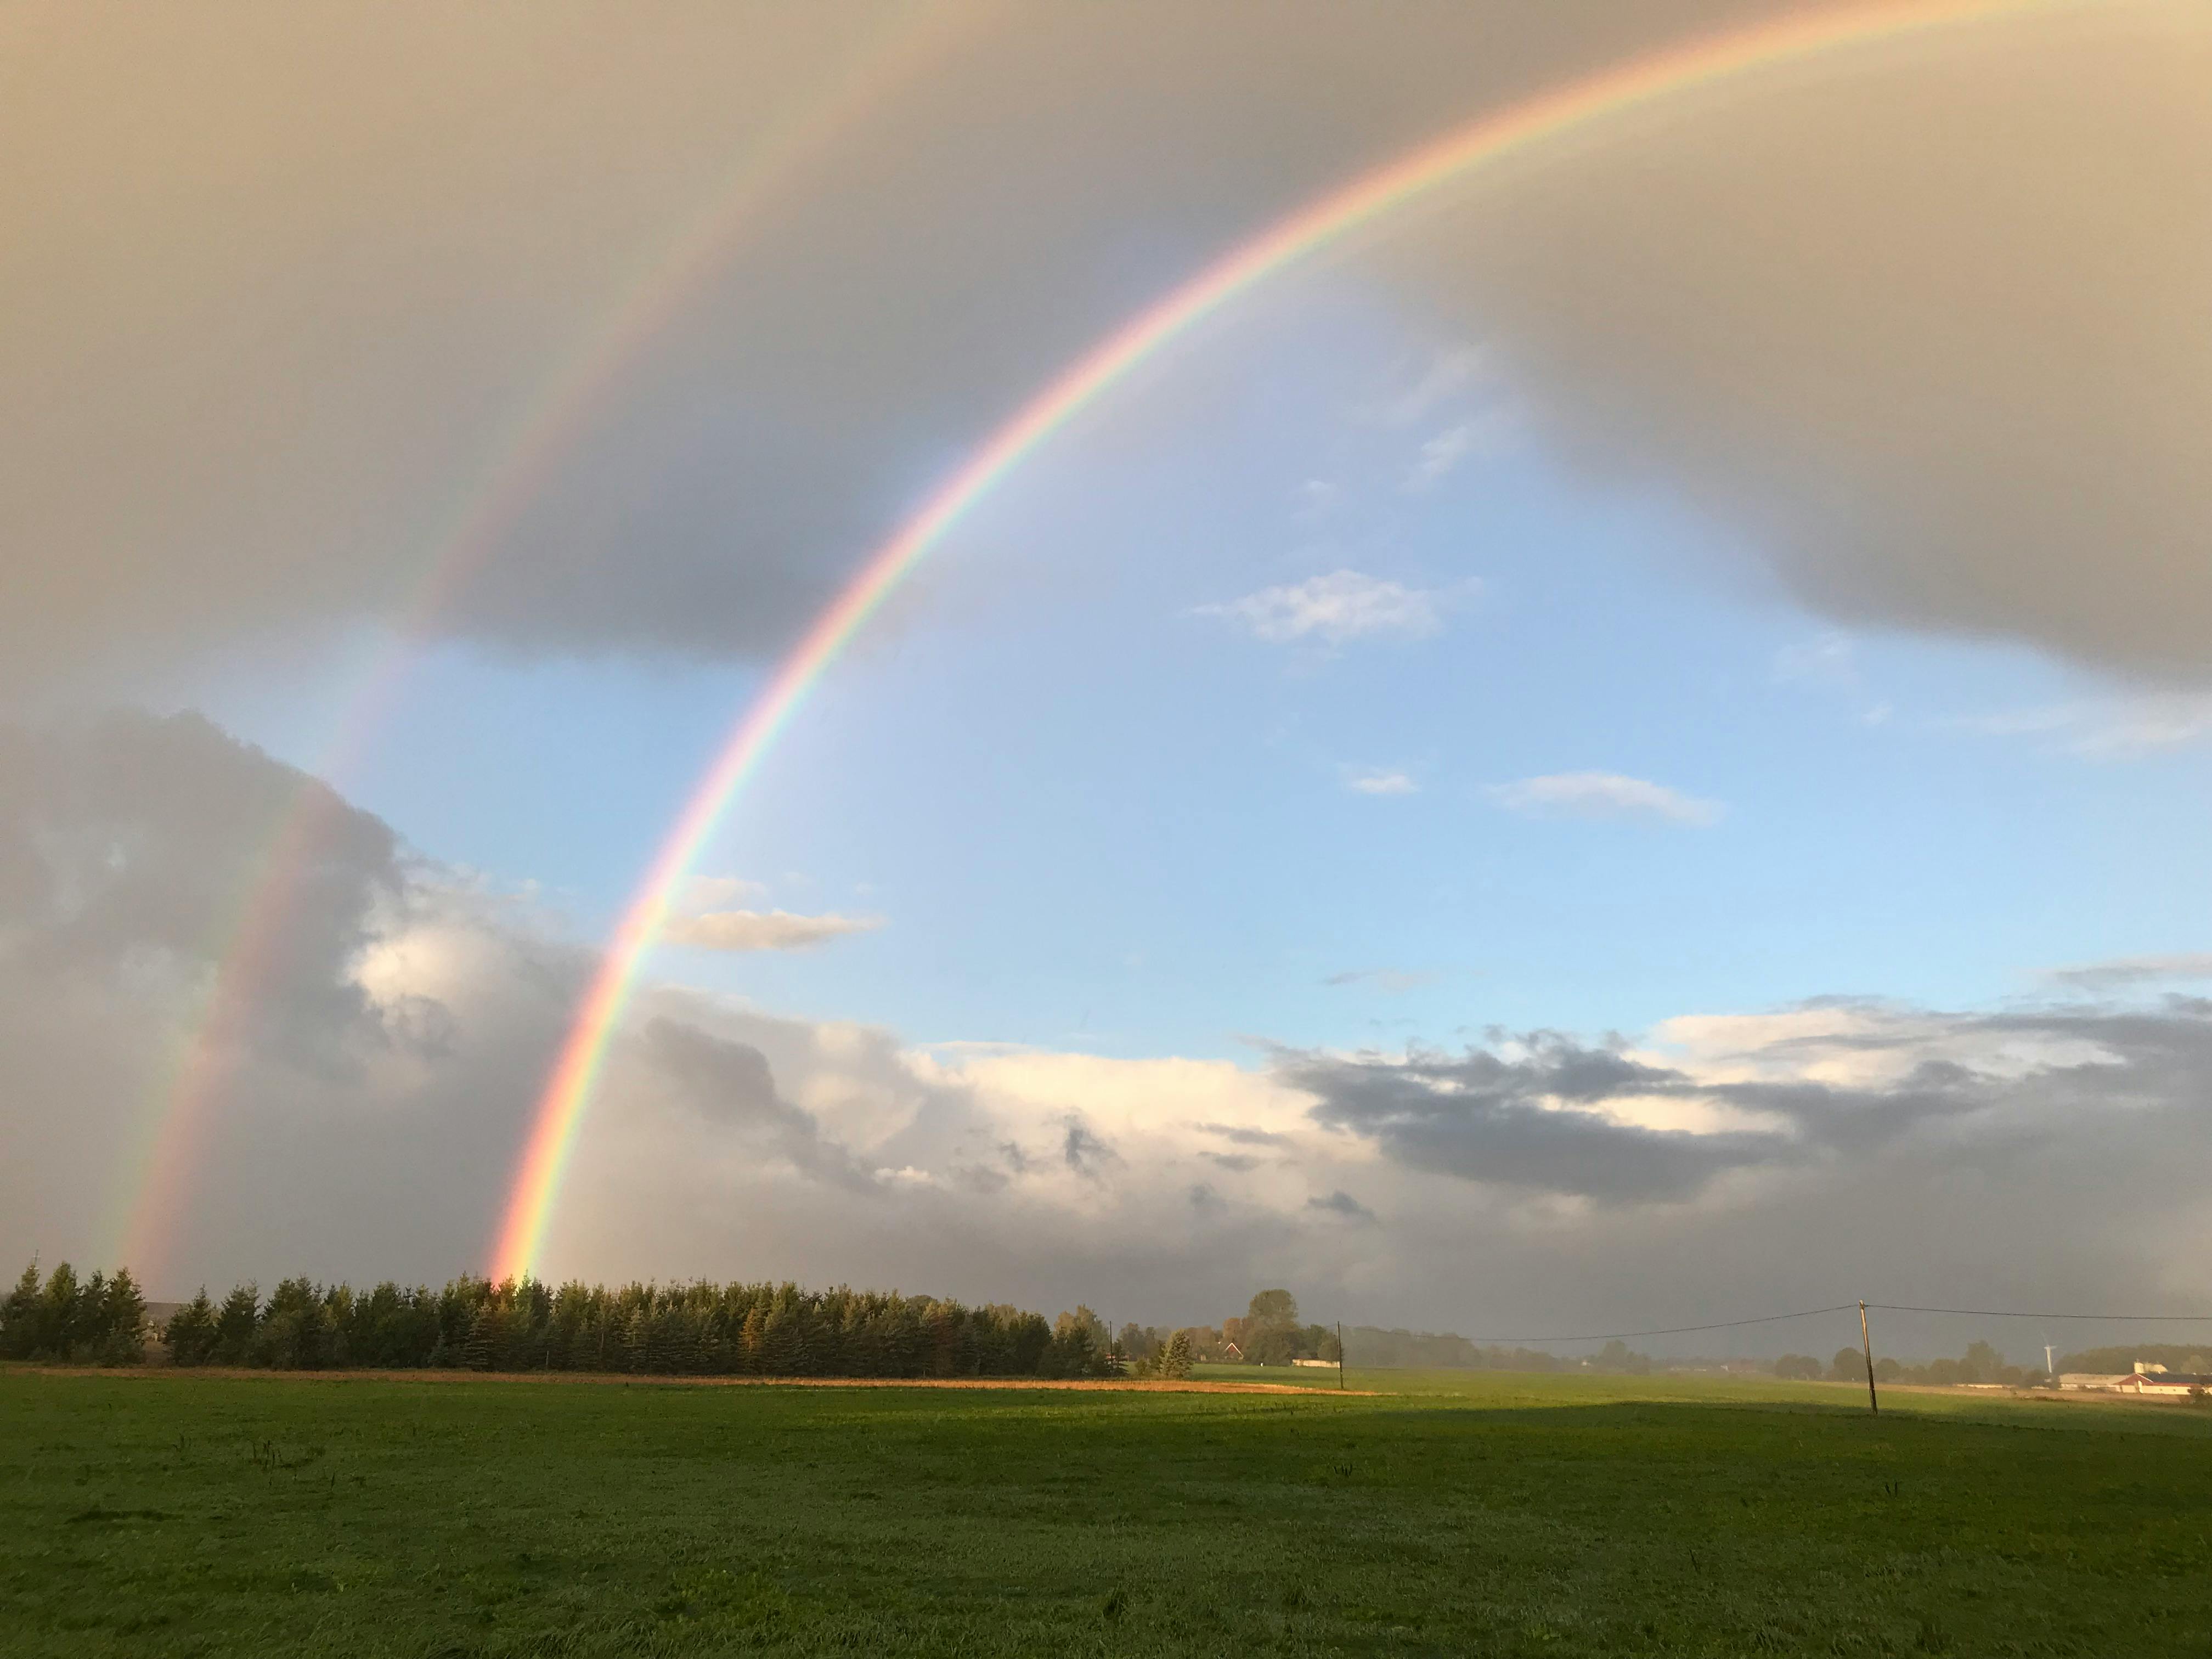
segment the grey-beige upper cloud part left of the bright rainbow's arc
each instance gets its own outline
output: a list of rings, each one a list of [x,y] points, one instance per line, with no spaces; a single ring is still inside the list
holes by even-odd
[[[0,664],[97,677],[425,591],[502,650],[772,650],[1210,254],[1759,9],[577,7],[518,53],[429,4],[77,7],[0,100]]]

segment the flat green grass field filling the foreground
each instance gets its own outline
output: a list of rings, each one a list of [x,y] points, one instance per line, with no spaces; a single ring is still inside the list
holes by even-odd
[[[1349,1383],[0,1367],[0,1650],[2212,1652],[2208,1413]]]

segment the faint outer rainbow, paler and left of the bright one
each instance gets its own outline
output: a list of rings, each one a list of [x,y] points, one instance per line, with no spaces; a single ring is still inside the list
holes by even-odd
[[[166,1263],[201,1161],[201,1144],[212,1128],[215,1104],[234,1075],[252,1011],[276,971],[285,918],[312,876],[316,845],[336,807],[336,796],[323,781],[347,776],[367,754],[376,730],[398,703],[420,641],[513,533],[524,509],[584,438],[606,396],[646,345],[721,270],[757,215],[776,201],[807,161],[936,64],[993,9],[991,0],[902,9],[898,24],[883,29],[825,88],[803,102],[794,100],[792,113],[748,146],[708,192],[708,206],[641,261],[608,319],[538,383],[509,422],[504,440],[493,445],[491,465],[480,480],[460,493],[451,515],[427,538],[429,553],[409,604],[345,697],[312,776],[299,781],[268,845],[250,863],[257,876],[237,896],[212,982],[166,1073],[166,1088],[146,1115],[146,1130],[124,1159],[119,1208],[111,1212],[108,1225],[119,1250],[113,1261],[133,1263],[142,1276]]]

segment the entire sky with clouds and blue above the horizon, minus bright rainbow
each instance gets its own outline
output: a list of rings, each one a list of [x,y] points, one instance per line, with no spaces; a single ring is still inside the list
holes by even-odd
[[[484,1270],[672,821],[998,422],[1823,11],[13,9],[0,1252]],[[533,1267],[2199,1307],[2208,71],[2179,0],[1876,31],[1148,358],[717,825]]]

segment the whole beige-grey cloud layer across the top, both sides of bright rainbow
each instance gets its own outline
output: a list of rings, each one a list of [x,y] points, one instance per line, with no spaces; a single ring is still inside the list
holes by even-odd
[[[772,653],[949,451],[1210,254],[1767,11],[580,7],[518,55],[422,4],[221,38],[95,9],[0,108],[33,250],[0,276],[0,518],[35,549],[0,564],[0,672],[407,615],[456,518],[449,635]],[[1360,254],[1447,343],[1394,418],[1495,380],[1548,456],[1692,504],[1843,626],[2203,681],[2208,31],[2188,0],[2000,13],[1429,197]],[[575,400],[641,270],[688,272],[668,334]]]

